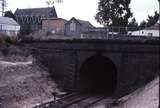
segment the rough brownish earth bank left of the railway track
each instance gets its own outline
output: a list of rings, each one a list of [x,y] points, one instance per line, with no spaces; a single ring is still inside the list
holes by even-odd
[[[0,58],[0,108],[31,108],[53,98],[56,84],[47,71],[32,61],[11,62]]]

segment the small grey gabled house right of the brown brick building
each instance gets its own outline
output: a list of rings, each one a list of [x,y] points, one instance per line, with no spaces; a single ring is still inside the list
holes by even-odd
[[[80,36],[86,29],[93,28],[93,25],[88,21],[71,18],[65,24],[65,35]]]

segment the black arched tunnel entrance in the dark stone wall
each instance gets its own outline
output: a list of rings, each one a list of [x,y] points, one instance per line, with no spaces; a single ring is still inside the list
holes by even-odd
[[[117,72],[107,57],[88,58],[80,69],[80,89],[83,92],[105,92],[112,95],[116,87]]]

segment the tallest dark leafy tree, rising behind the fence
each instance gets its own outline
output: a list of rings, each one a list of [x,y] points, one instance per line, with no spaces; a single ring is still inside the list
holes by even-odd
[[[104,26],[126,27],[132,17],[129,8],[131,0],[100,0],[95,19]]]

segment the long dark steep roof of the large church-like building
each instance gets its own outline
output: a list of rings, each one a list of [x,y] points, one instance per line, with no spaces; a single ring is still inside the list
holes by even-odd
[[[57,17],[57,13],[54,7],[17,9],[14,15]]]

